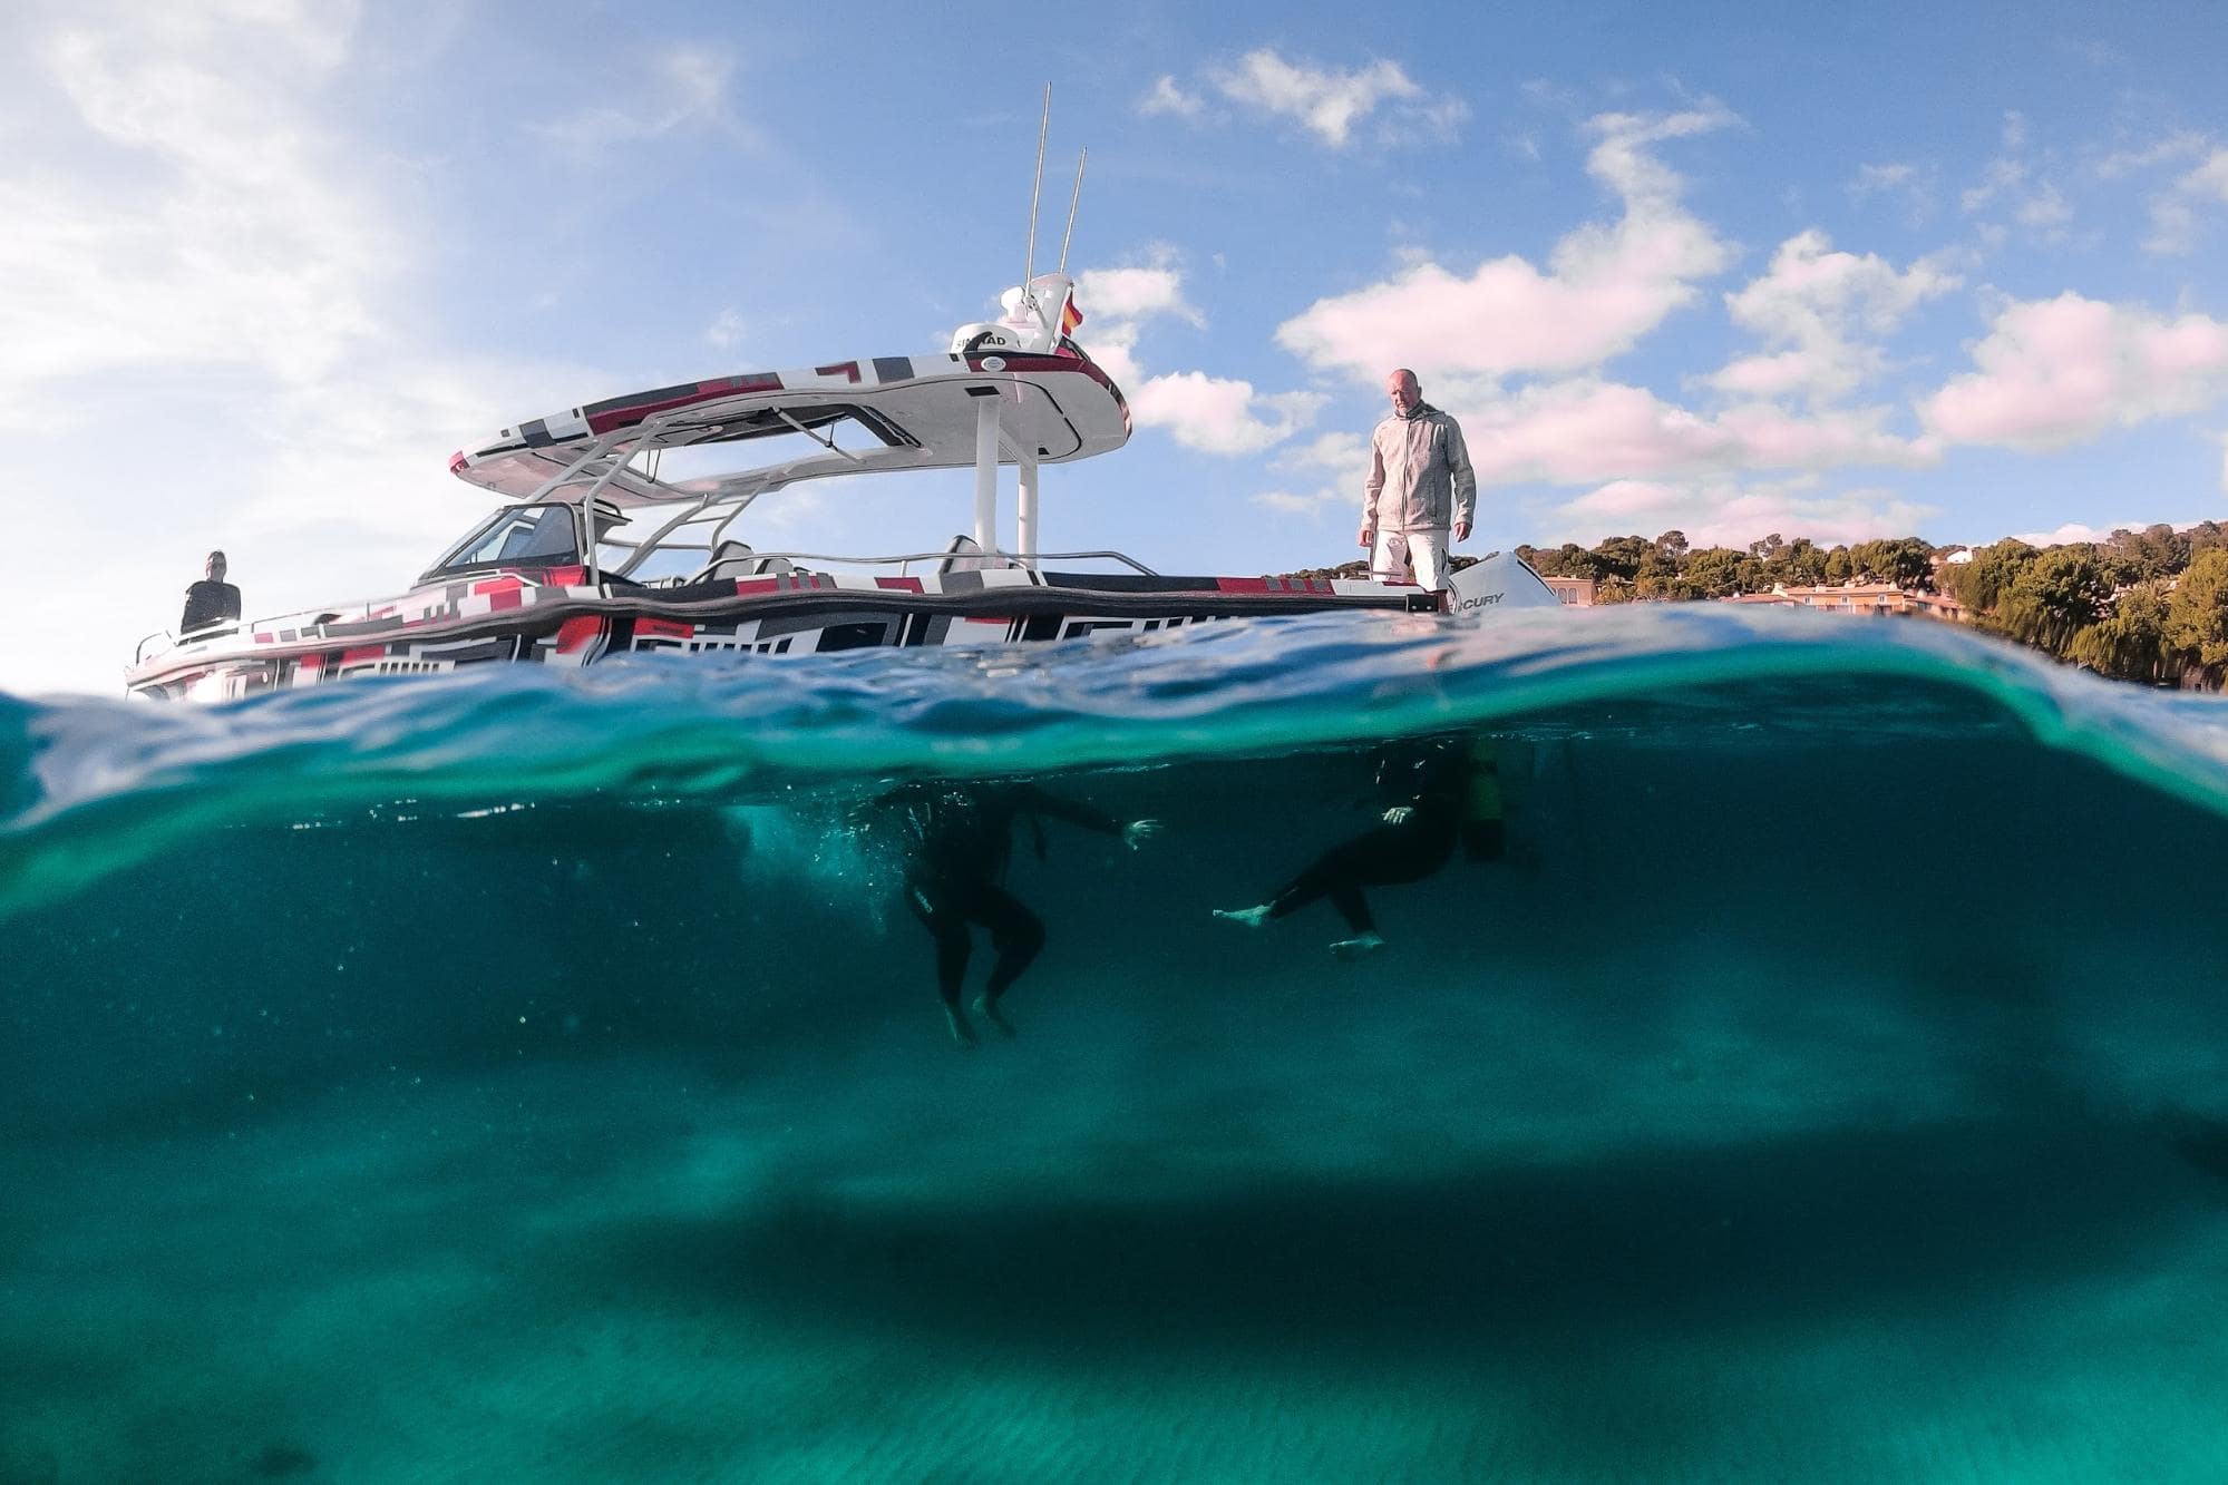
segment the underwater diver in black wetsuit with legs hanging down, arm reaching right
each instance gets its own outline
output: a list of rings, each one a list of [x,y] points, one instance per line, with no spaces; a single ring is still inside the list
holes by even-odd
[[[1136,850],[1159,833],[1156,819],[1121,822],[1072,799],[1061,799],[1034,784],[907,784],[882,795],[891,806],[898,839],[905,850],[905,906],[936,940],[936,991],[945,1000],[945,1020],[960,1046],[974,1046],[976,1033],[960,1009],[967,960],[974,955],[969,924],[989,928],[998,962],[976,997],[976,1013],[1014,1035],[1014,1024],[1000,1011],[1000,997],[1014,989],[1045,946],[1045,924],[1014,893],[1005,891],[1005,868],[1014,855],[1014,824],[1027,817],[1036,855],[1045,855],[1043,819],[1118,835]]]

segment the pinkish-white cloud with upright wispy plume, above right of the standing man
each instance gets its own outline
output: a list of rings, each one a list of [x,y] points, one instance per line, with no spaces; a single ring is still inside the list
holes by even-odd
[[[1321,298],[1277,330],[1319,367],[1379,376],[1393,365],[1430,372],[1571,372],[1629,350],[1696,298],[1693,283],[1724,269],[1731,247],[1680,205],[1680,178],[1651,147],[1733,116],[1718,105],[1687,114],[1604,114],[1586,169],[1624,203],[1615,225],[1586,225],[1555,245],[1542,274],[1511,254],[1459,276],[1417,263],[1399,276]]]

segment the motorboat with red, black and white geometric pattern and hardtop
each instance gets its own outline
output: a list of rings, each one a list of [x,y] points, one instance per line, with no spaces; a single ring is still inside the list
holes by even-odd
[[[506,427],[450,470],[512,503],[408,592],[140,641],[125,686],[223,701],[483,661],[613,655],[820,655],[871,646],[1032,643],[1317,610],[1553,606],[1513,554],[1448,594],[1299,577],[1163,577],[1121,552],[1038,552],[1038,472],[1130,439],[1121,387],[1063,330],[1074,283],[1040,274],[942,356],[833,361],[655,387]],[[751,454],[778,454],[751,463]],[[729,472],[659,476],[720,454]],[[940,552],[766,552],[744,514],[829,476],[976,472],[974,530]],[[998,548],[1016,470],[1016,550]],[[1074,570],[1061,563],[1105,563]]]

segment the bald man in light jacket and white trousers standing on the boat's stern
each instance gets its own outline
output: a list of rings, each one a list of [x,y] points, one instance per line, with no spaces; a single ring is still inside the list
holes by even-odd
[[[1386,374],[1393,412],[1370,434],[1370,481],[1361,496],[1361,545],[1379,583],[1446,588],[1446,548],[1470,539],[1477,470],[1462,425],[1424,401],[1415,372]]]

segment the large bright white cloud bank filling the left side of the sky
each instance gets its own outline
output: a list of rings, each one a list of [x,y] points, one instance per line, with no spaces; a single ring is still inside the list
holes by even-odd
[[[116,688],[212,545],[254,614],[408,586],[492,503],[446,454],[584,385],[452,356],[408,321],[417,236],[332,107],[350,16],[74,4],[22,40],[51,107],[40,160],[0,180],[0,407],[45,432],[98,423],[114,494],[36,519],[56,550],[98,554],[116,601],[85,608],[82,566],[29,572],[27,612],[74,621],[0,635],[7,690]],[[25,445],[18,476],[67,494],[82,441]]]

